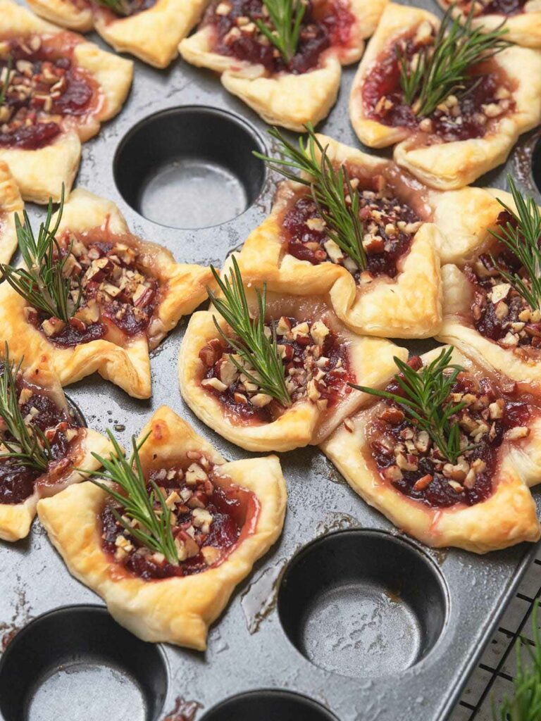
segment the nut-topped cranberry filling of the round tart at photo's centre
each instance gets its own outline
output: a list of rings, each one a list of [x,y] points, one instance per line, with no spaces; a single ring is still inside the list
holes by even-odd
[[[272,324],[292,402],[308,398],[325,410],[336,404],[340,394],[351,392],[347,383],[355,378],[349,368],[347,346],[325,322],[298,322],[281,317]],[[271,330],[271,325],[267,327]],[[237,370],[232,354],[234,350],[217,339],[200,350],[199,358],[206,368],[201,386],[220,399],[227,415],[234,420],[245,423],[276,420],[283,413],[283,407]],[[234,358],[240,361],[239,356]],[[252,376],[255,373],[247,371]]]

